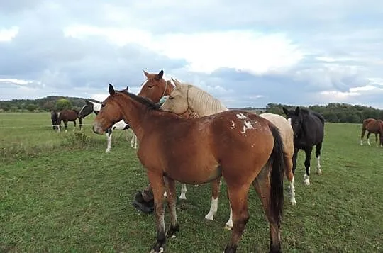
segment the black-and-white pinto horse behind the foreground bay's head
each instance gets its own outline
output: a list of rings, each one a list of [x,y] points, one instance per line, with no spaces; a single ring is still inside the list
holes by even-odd
[[[128,90],[128,88],[126,88]],[[82,106],[81,110],[79,111],[79,118],[85,118],[89,114],[94,113],[98,114],[101,110],[101,103],[97,103],[94,101],[85,101],[85,106]],[[111,137],[112,137],[112,131],[113,130],[127,130],[129,129],[129,125],[126,124],[123,120],[118,121],[116,124],[112,125],[111,128],[108,128],[106,130],[106,153],[109,153],[111,151]],[[127,132],[126,132],[127,133]],[[132,131],[133,133],[133,131]],[[133,137],[135,137],[135,134],[133,133]],[[133,137],[131,140],[131,146],[134,147]],[[126,136],[126,140],[128,140],[128,136]]]

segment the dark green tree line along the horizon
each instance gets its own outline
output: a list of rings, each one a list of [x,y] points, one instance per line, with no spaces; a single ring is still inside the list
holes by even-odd
[[[92,99],[89,99],[92,101]],[[21,111],[61,111],[65,108],[79,110],[84,106],[85,99],[67,96],[47,96],[43,99],[12,99],[0,101],[0,112]],[[281,103],[268,103],[265,108],[245,107],[246,111],[256,113],[277,113],[284,116],[282,107],[295,108],[296,106]],[[362,123],[365,118],[379,118],[383,120],[383,110],[371,106],[351,105],[348,103],[328,103],[326,106],[301,106],[321,113],[327,122],[333,123]]]

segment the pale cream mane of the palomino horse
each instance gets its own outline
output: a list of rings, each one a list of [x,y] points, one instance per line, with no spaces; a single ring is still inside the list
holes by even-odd
[[[189,89],[188,96],[190,101],[192,101],[191,99],[193,98],[198,98],[198,106],[196,106],[196,104],[191,104],[191,106],[193,106],[193,108],[190,108],[191,110],[194,110],[198,107],[199,110],[209,114],[228,110],[226,106],[223,106],[219,99],[211,96],[211,94],[207,93],[203,89],[200,89],[199,87],[194,86],[193,84],[188,84],[186,82],[182,82],[181,85],[184,89]]]

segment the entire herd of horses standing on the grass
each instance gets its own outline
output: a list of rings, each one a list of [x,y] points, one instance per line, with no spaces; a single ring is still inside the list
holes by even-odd
[[[90,113],[96,114],[94,133],[111,135],[111,130],[131,128],[135,140],[133,145],[132,139],[131,145],[137,148],[138,144],[138,159],[146,169],[154,196],[157,241],[151,252],[163,252],[167,238],[175,237],[179,230],[175,181],[182,183],[179,198],[184,199],[186,184],[211,182],[211,208],[205,218],[213,220],[218,209],[221,178],[226,182],[231,210],[226,227],[232,230],[224,252],[236,252],[245,230],[251,185],[270,223],[270,252],[282,252],[284,174],[289,180],[290,203],[296,205],[294,174],[298,151],[304,150],[306,154],[304,184],[310,184],[314,146],[316,172],[322,174],[323,116],[299,107],[283,108],[286,117],[228,110],[218,99],[192,84],[177,79],[172,79],[174,84],[165,81],[162,70],[158,74],[143,72],[146,80],[138,95],[128,92],[128,88],[116,91],[109,84],[105,101],[87,101],[78,113],[61,111],[57,123],[52,118],[53,128],[60,130],[63,120],[66,130],[67,121],[77,117],[82,129],[81,119]],[[121,126],[113,128],[116,124]],[[369,124],[363,125],[362,137],[365,130],[369,131],[367,137],[374,133]],[[379,129],[383,129],[383,124]],[[110,142],[108,147],[110,150]],[[167,232],[162,203],[165,193],[171,223]]]

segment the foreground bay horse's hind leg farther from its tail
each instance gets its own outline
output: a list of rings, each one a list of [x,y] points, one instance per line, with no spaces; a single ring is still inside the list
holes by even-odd
[[[234,253],[237,252],[238,242],[250,217],[247,198],[250,185],[240,184],[240,186],[232,186],[230,183],[227,185],[228,198],[233,210],[233,231],[231,232],[231,239],[226,245],[225,253]]]

